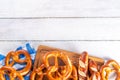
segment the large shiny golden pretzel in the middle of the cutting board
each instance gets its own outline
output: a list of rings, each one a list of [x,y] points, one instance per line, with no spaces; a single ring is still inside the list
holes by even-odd
[[[48,59],[50,57],[55,58],[55,63],[50,66]],[[58,58],[64,62],[64,66],[58,65]],[[43,57],[43,63],[49,67],[48,77],[50,80],[66,80],[72,72],[72,64],[68,56],[59,51],[48,52]]]

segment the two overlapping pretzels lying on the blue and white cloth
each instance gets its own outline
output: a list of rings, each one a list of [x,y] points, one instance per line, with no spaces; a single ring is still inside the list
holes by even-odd
[[[23,55],[24,58],[20,58]],[[26,64],[22,69],[15,69],[15,64]],[[24,76],[31,71],[32,60],[30,54],[26,50],[10,51],[5,58],[5,65],[0,68],[0,80],[6,80],[5,76],[9,76],[10,80],[24,80]]]

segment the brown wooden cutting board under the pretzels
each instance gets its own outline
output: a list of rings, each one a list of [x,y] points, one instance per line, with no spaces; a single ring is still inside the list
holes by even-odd
[[[76,67],[78,66],[78,58],[80,56],[79,53],[40,45],[37,49],[37,54],[35,56],[35,62],[34,62],[33,69],[38,68],[42,64],[42,57],[44,56],[45,53],[50,52],[50,51],[60,51],[64,54],[66,54],[70,58],[72,64],[74,64]],[[89,59],[96,61],[99,65],[104,64],[104,60],[101,58],[89,56]],[[50,63],[53,63],[53,60],[51,60]]]

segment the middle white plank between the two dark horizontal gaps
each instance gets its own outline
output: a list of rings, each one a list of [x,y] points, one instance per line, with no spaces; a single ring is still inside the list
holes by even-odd
[[[120,18],[0,19],[0,40],[120,40]]]

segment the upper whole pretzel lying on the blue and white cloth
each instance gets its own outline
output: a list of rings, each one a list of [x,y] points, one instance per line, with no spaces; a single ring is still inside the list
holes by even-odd
[[[23,54],[25,59],[20,59],[20,55]],[[12,61],[10,61],[12,59]],[[6,66],[13,66],[15,63],[26,63],[26,66],[22,70],[18,70],[21,75],[26,75],[32,66],[32,61],[29,53],[26,50],[18,50],[18,51],[11,51],[5,58],[5,65]]]

